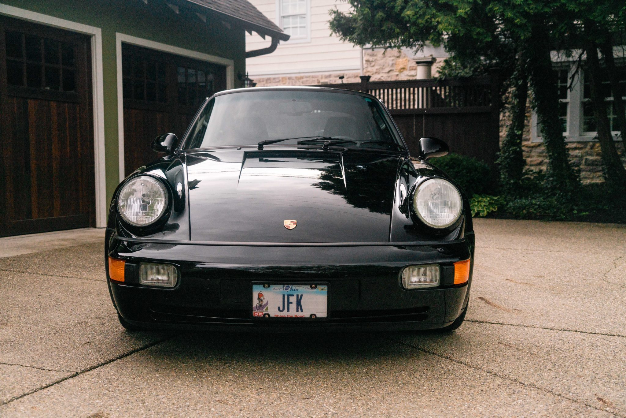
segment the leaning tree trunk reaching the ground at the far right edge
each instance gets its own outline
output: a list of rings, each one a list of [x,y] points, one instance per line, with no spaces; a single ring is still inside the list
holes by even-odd
[[[585,41],[585,55],[587,55],[586,75],[589,76],[591,101],[593,104],[593,117],[598,127],[598,142],[602,152],[602,164],[604,165],[604,175],[609,187],[614,190],[623,191],[626,187],[626,169],[617,154],[613,135],[607,116],[607,103],[602,96],[602,78],[600,61],[598,60],[598,48],[595,41]]]

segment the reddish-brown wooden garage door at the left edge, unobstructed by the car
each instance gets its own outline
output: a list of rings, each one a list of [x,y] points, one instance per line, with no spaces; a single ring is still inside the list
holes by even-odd
[[[0,236],[95,225],[86,36],[0,17]]]

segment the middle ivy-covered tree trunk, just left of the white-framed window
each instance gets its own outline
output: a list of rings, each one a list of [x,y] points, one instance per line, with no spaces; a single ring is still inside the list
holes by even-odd
[[[548,185],[553,191],[572,197],[580,182],[577,172],[570,165],[562,123],[558,117],[557,75],[552,70],[549,39],[545,27],[537,24],[532,29],[525,48],[530,67],[532,104],[539,119],[543,145],[548,154]]]

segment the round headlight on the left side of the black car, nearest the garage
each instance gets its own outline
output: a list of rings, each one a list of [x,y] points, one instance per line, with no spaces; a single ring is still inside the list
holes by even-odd
[[[167,207],[167,191],[159,180],[139,175],[128,180],[118,197],[118,211],[126,222],[146,226],[155,222]]]

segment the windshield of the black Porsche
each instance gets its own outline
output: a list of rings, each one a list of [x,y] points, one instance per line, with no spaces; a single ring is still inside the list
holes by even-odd
[[[389,121],[377,100],[332,91],[242,91],[212,98],[185,141],[185,149],[284,144],[315,145],[337,138],[342,147],[397,150]],[[308,141],[307,141],[308,140]]]

